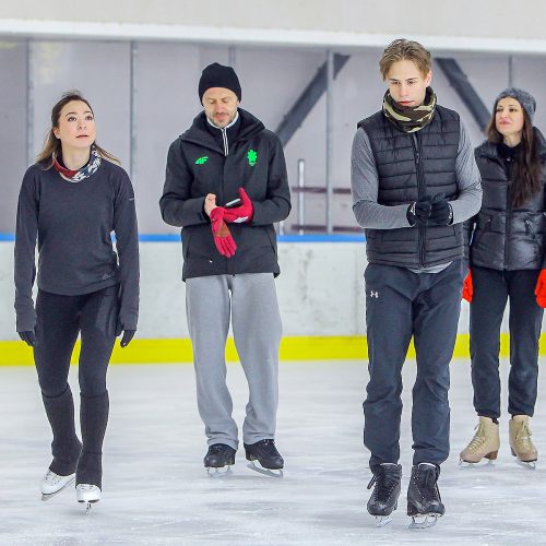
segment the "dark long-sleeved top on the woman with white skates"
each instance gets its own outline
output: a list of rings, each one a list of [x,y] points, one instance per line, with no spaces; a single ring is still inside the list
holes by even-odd
[[[75,296],[119,283],[119,323],[136,330],[139,234],[133,188],[121,167],[103,159],[96,173],[79,182],[39,164],[25,173],[15,232],[17,332],[36,324],[36,240],[38,288]]]

